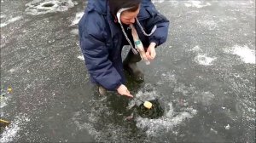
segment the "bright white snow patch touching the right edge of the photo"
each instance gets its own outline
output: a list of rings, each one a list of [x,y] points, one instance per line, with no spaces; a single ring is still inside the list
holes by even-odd
[[[249,49],[247,45],[235,45],[231,49],[224,49],[227,54],[236,54],[247,64],[255,64],[255,50]]]

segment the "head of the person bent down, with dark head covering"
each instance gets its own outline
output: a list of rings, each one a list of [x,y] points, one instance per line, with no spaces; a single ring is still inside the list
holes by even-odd
[[[125,25],[135,22],[139,13],[140,3],[142,0],[108,0],[110,13],[117,15],[120,9],[126,9],[120,14],[120,21]]]

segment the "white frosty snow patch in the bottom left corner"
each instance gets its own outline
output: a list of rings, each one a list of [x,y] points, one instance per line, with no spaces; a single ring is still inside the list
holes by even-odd
[[[4,129],[3,134],[1,134],[0,142],[13,142],[19,138],[19,132],[22,130],[23,126],[30,121],[26,115],[19,115],[15,117],[14,121],[10,123],[10,125]]]

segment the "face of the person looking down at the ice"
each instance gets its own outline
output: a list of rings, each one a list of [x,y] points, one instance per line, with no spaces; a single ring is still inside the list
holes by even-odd
[[[124,11],[120,16],[120,20],[125,25],[130,25],[135,22],[137,14],[140,12],[140,9],[137,9],[135,12]]]

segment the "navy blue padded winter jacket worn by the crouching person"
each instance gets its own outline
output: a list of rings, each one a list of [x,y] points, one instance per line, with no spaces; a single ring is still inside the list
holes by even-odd
[[[150,0],[143,0],[137,19],[147,33],[154,25],[157,26],[154,34],[146,37],[135,25],[145,47],[152,42],[156,45],[166,42],[169,21],[158,13]],[[127,42],[119,24],[109,12],[108,0],[88,0],[79,21],[79,40],[92,83],[108,90],[116,90],[125,83],[121,51]]]

